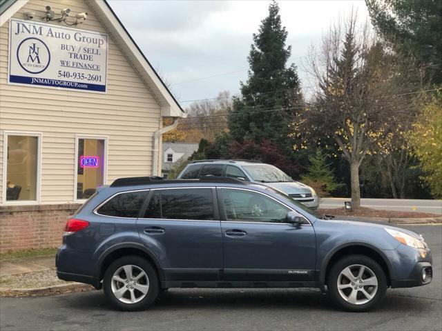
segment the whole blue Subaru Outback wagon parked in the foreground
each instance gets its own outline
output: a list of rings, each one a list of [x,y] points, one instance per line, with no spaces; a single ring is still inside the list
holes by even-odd
[[[120,310],[167,288],[320,288],[346,310],[432,280],[422,237],[323,217],[265,185],[226,177],[117,179],[64,228],[57,274]]]

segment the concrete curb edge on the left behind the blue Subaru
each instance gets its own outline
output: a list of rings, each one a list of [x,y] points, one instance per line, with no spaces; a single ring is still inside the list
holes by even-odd
[[[95,290],[95,288],[83,283],[66,283],[44,288],[0,288],[0,297],[37,297],[66,292],[86,292],[90,290]]]

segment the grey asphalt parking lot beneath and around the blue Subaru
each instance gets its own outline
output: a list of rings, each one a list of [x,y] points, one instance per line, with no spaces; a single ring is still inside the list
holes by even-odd
[[[378,309],[342,312],[299,290],[169,290],[143,312],[117,312],[102,291],[0,299],[6,330],[442,330],[442,225],[410,225],[433,254],[434,279],[388,290]]]

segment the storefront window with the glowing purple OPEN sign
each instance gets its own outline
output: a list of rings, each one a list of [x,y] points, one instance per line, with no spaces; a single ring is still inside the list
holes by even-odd
[[[88,199],[104,184],[104,139],[78,139],[77,199]]]

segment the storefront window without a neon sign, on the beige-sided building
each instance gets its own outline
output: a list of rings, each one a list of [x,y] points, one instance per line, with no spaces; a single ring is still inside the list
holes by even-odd
[[[37,200],[39,137],[8,135],[6,200]]]

